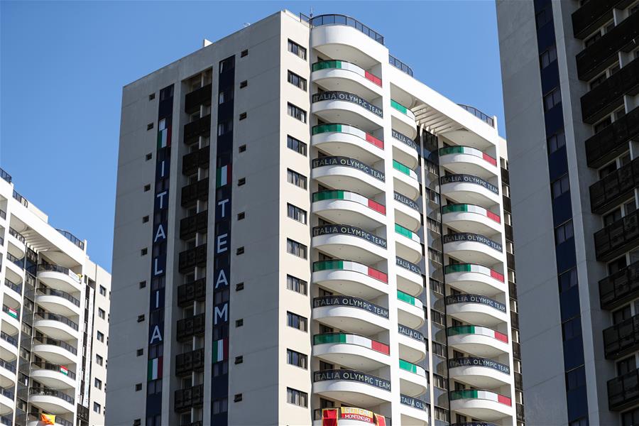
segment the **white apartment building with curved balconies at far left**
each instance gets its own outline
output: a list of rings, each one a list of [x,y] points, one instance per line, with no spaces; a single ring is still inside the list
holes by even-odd
[[[0,178],[0,424],[104,425],[111,275]]]

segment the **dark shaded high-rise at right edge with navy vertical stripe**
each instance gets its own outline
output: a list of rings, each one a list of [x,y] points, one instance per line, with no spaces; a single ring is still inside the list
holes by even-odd
[[[639,424],[638,12],[497,1],[535,425]]]

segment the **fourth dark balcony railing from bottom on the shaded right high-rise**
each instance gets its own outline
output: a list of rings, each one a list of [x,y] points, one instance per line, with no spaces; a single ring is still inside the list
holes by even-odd
[[[639,210],[636,210],[594,234],[597,260],[611,261],[618,254],[636,246],[638,236]]]

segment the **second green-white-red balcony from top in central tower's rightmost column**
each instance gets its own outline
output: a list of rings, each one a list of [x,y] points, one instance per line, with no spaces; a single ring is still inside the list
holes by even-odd
[[[474,204],[446,204],[442,206],[442,223],[461,232],[477,234],[501,233],[501,217]]]

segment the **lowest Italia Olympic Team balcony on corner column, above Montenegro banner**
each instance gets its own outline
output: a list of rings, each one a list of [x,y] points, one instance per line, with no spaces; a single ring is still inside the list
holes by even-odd
[[[391,402],[391,382],[356,370],[313,373],[313,393],[347,404],[369,407]]]

